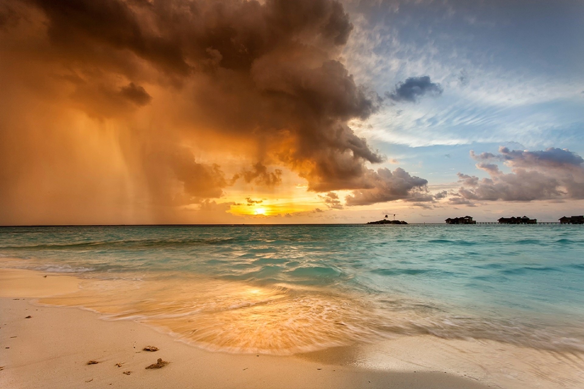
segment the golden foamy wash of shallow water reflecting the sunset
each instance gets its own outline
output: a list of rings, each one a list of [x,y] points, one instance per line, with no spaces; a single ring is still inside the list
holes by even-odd
[[[285,355],[373,334],[364,308],[346,297],[215,279],[87,280],[78,292],[41,303],[139,319],[214,351]]]

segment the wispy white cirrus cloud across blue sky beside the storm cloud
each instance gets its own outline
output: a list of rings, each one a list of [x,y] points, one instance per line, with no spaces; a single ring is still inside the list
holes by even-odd
[[[378,93],[395,94],[396,83],[412,74],[425,74],[440,83],[443,94],[440,99],[386,107],[359,134],[412,147],[506,141],[541,146],[578,140],[573,134],[584,124],[578,99],[584,76],[570,58],[574,48],[582,46],[571,38],[573,33],[557,43],[566,56],[552,60],[531,47],[535,38],[517,36],[521,42],[494,38],[500,31],[513,31],[512,15],[519,8],[510,4],[398,1],[394,5],[356,7],[361,13],[354,19],[345,50],[347,58],[359,62],[349,61],[349,68],[359,79],[376,85]],[[534,7],[534,13],[551,22],[547,27],[533,26],[542,40],[556,30],[571,28],[561,22],[561,8],[550,13]],[[522,17],[521,23],[535,20]],[[531,51],[517,55],[526,50]],[[545,69],[541,64],[546,64]],[[550,71],[560,68],[562,72]],[[584,147],[581,139],[579,143]]]

